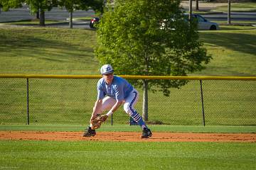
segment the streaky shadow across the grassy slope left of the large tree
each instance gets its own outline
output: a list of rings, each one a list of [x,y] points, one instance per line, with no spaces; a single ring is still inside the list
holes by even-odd
[[[24,55],[38,57],[55,62],[92,57],[92,44],[88,45],[83,41],[93,36],[90,33],[87,34],[86,32],[81,36],[81,32],[76,30],[25,29],[27,29],[25,33],[19,29],[0,33],[1,52],[11,52],[12,55],[21,57]],[[32,33],[33,31],[36,33]],[[82,38],[78,38],[78,36]],[[74,40],[75,38],[78,38],[78,40]],[[90,39],[87,41],[90,42]]]

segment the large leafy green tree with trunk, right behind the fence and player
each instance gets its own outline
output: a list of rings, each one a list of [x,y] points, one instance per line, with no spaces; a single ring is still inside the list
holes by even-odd
[[[116,0],[97,26],[95,55],[117,74],[186,76],[210,62],[196,23],[183,18],[180,0]],[[180,88],[184,80],[133,80],[143,87],[143,118],[148,120],[147,92]]]

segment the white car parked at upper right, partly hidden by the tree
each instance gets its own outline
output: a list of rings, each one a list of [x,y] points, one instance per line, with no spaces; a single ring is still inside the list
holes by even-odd
[[[188,17],[188,14],[186,14]],[[192,19],[198,22],[198,30],[219,30],[218,23],[208,21],[206,18],[198,14],[192,14]]]

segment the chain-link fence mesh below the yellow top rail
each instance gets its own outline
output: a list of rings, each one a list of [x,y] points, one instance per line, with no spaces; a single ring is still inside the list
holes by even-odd
[[[87,125],[97,81],[1,77],[0,123]],[[136,108],[142,115],[143,91],[137,90]],[[121,106],[107,123],[129,124],[129,120]],[[169,97],[149,91],[148,123],[256,125],[256,81],[189,80],[181,89],[171,89]]]

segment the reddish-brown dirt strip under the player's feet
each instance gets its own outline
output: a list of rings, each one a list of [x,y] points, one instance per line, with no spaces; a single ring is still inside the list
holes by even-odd
[[[0,140],[116,141],[116,142],[256,142],[255,133],[154,132],[141,139],[140,132],[97,132],[82,137],[82,132],[0,131]]]

